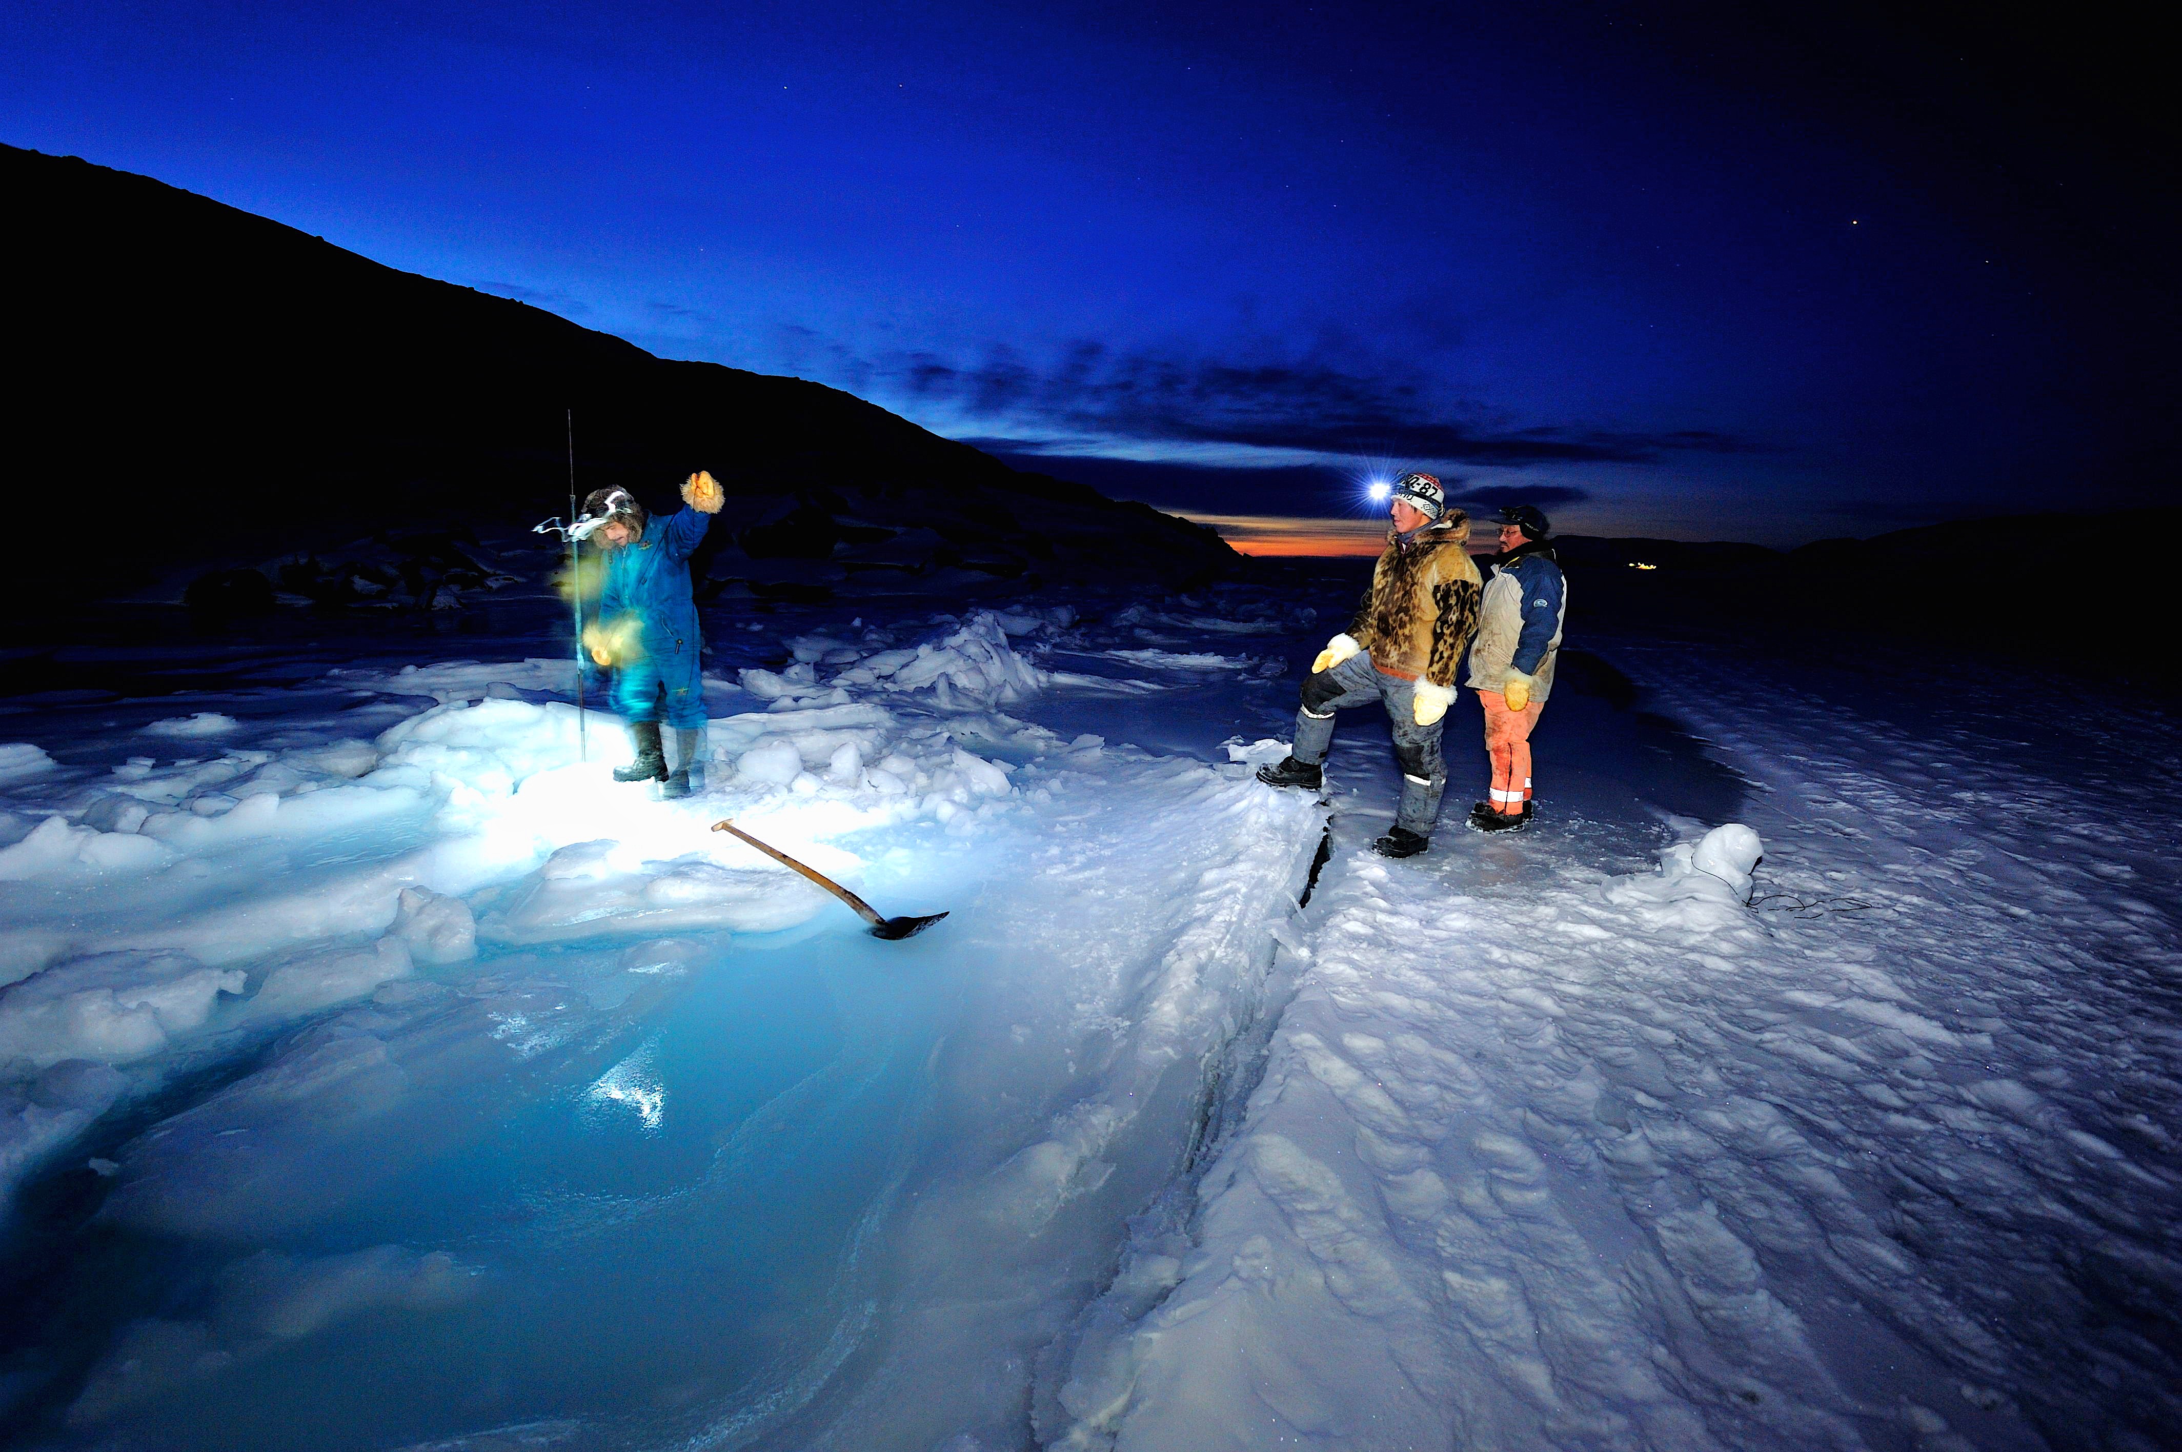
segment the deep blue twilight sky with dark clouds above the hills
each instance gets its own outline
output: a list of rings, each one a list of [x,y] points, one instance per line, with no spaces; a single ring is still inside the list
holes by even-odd
[[[2149,39],[1750,9],[15,0],[0,140],[1237,537],[2171,502]]]

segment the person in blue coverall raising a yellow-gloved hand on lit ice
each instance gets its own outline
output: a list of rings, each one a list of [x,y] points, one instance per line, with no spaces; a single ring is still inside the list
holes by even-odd
[[[613,710],[628,721],[637,760],[613,773],[615,782],[663,782],[661,797],[687,797],[692,766],[703,773],[705,681],[696,598],[690,592],[690,555],[705,539],[711,517],[727,502],[711,474],[698,469],[683,483],[683,504],[655,520],[626,489],[594,489],[583,513],[604,520],[594,537],[607,550],[607,579],[598,620],[585,627],[591,659],[613,670]],[[672,751],[659,736],[666,716]],[[703,788],[698,775],[696,788]]]

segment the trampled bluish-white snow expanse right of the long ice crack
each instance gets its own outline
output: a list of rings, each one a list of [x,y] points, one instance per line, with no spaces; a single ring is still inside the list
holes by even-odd
[[[1626,659],[1750,825],[1634,878],[1540,834],[1338,858],[1244,1124],[1078,1321],[1050,1445],[2171,1445],[2182,959],[2136,889],[2171,725],[2040,762],[1990,683],[1859,734],[1754,662]]]

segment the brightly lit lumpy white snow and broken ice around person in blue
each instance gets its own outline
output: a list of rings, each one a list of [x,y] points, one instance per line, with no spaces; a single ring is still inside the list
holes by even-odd
[[[594,716],[585,764],[574,707],[513,699],[565,686],[567,666],[546,659],[334,673],[356,697],[441,701],[397,707],[371,738],[340,734],[353,716],[340,712],[279,716],[257,734],[271,745],[242,745],[233,716],[194,712],[146,734],[236,745],[170,764],[131,758],[103,779],[57,773],[37,747],[0,747],[11,812],[37,823],[0,847],[0,886],[20,884],[0,895],[0,1076],[28,1081],[63,1059],[120,1066],[295,1020],[417,963],[471,959],[480,937],[535,945],[807,921],[825,895],[714,834],[716,819],[855,880],[862,860],[829,838],[912,821],[969,830],[1015,795],[1008,766],[962,738],[1045,742],[975,710],[1036,683],[991,614],[910,655],[890,705],[849,703],[829,683],[807,692],[827,705],[799,710],[783,692],[768,712],[714,721],[718,786],[685,804],[609,779],[631,755],[611,718]],[[786,769],[735,771],[738,758]],[[465,895],[491,904],[482,919]],[[0,1107],[0,1210],[74,1129],[31,1100]]]

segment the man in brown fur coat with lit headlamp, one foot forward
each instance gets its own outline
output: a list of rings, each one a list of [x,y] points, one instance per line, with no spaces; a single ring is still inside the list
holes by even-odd
[[[1471,520],[1447,507],[1438,478],[1405,474],[1394,485],[1390,513],[1386,552],[1372,568],[1355,624],[1327,642],[1303,681],[1294,753],[1257,775],[1268,786],[1318,790],[1333,745],[1333,714],[1344,705],[1383,703],[1401,764],[1401,806],[1394,828],[1372,847],[1405,858],[1431,845],[1440,817],[1447,788],[1440,725],[1455,701],[1462,655],[1477,633],[1479,579],[1462,548]]]

